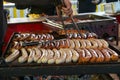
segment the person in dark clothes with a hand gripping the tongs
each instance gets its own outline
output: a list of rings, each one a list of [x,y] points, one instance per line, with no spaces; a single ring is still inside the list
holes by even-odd
[[[7,1],[7,0],[6,0]],[[43,4],[42,4],[43,3]],[[73,11],[71,8],[71,2],[70,0],[64,0],[65,6],[62,7],[62,11],[66,14],[66,15],[72,15]],[[54,5],[54,0],[41,0],[40,4],[26,4],[23,5],[21,3],[15,3],[15,6],[17,9],[26,9],[28,8],[29,13],[28,14],[46,14],[46,15],[56,15],[57,11],[56,11],[56,6]]]

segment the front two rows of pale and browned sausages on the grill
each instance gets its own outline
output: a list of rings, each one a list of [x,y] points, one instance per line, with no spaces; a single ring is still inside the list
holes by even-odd
[[[87,32],[87,34],[91,33]],[[95,36],[60,40],[52,38],[42,45],[12,48],[5,61],[14,60],[19,63],[85,64],[117,61],[118,54],[109,48],[107,41],[97,39]]]

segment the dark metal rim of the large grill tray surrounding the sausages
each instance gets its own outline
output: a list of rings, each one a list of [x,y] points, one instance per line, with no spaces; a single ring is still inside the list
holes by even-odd
[[[3,55],[2,55],[2,59],[3,59],[3,61],[4,61],[4,58],[5,58],[5,56],[6,55],[8,55],[9,54],[9,50],[10,50],[10,48],[11,48],[11,43],[12,43],[12,41],[14,40],[14,38],[15,38],[15,35],[16,34],[19,34],[19,33],[14,33],[12,36],[11,36],[11,39],[9,40],[9,43],[8,43],[8,45],[7,45],[7,48],[6,48],[6,50],[5,50],[5,52],[3,53]],[[113,49],[114,51],[116,51],[118,54],[120,54],[120,51],[116,48],[116,47],[114,47],[114,46],[112,46],[111,44],[110,44],[110,48],[111,49]],[[101,64],[112,64],[112,63],[114,63],[114,64],[119,64],[119,62],[118,61],[115,61],[115,62],[105,62],[105,63],[88,63],[88,65],[90,65],[90,64],[94,64],[94,65],[101,65]],[[13,62],[10,62],[10,63],[6,63],[5,61],[4,61],[4,63],[3,63],[3,66],[11,66],[11,67],[27,67],[27,66],[31,66],[31,67],[35,67],[35,66],[59,66],[59,67],[62,67],[62,66],[78,66],[78,65],[80,65],[80,64],[78,64],[78,63],[68,63],[68,64],[51,64],[51,65],[48,65],[48,64],[37,64],[37,63],[18,63],[17,62],[17,60],[15,60],[15,61],[13,61]],[[82,65],[82,64],[81,64]],[[87,64],[85,64],[85,65],[87,65]]]

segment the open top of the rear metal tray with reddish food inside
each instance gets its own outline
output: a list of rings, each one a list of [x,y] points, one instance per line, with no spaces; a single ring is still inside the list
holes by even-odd
[[[107,16],[98,16],[95,14],[79,14],[79,15],[74,15],[73,18],[77,18],[78,21],[77,23],[88,23],[88,22],[100,22],[100,21],[113,21],[115,18],[112,17],[107,17]],[[49,16],[48,19],[58,22],[60,21],[60,18],[57,16]],[[63,20],[67,20],[69,17],[63,17]],[[71,23],[66,23],[66,25],[71,24]]]

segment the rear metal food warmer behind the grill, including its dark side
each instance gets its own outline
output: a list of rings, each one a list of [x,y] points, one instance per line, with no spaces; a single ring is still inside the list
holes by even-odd
[[[68,17],[63,17],[64,20],[66,20],[67,18]],[[74,15],[73,18],[77,18],[79,20],[88,19],[88,21],[76,22],[79,29],[94,32],[100,38],[106,38],[106,35],[117,37],[117,23],[115,18],[107,16],[98,16],[95,14],[79,14]],[[60,22],[60,19],[57,16],[50,16],[48,19],[53,21],[54,23]],[[72,23],[65,23],[64,28],[66,30],[76,29]]]

